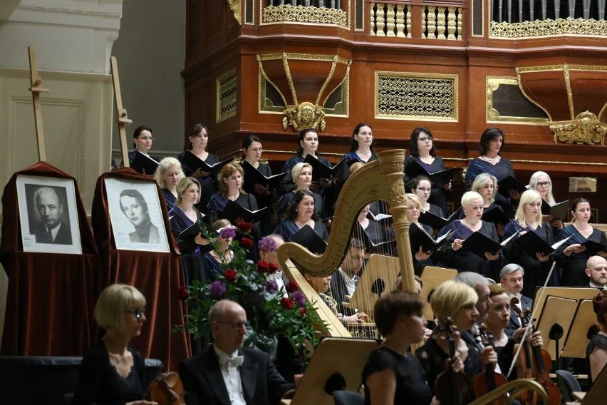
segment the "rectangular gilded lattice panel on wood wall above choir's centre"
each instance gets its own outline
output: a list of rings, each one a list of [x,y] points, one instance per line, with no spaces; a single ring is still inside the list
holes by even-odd
[[[375,71],[375,118],[457,122],[457,74]]]

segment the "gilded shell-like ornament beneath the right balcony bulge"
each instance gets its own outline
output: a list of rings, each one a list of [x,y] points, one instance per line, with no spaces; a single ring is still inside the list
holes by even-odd
[[[607,124],[598,121],[598,118],[590,111],[584,111],[579,113],[574,121],[551,123],[550,130],[554,132],[554,143],[603,145]]]

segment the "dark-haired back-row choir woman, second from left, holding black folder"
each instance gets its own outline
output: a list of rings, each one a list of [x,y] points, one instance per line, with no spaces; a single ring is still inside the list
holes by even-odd
[[[206,126],[200,123],[194,124],[190,130],[188,138],[190,139],[190,144],[187,145],[187,150],[190,150],[190,152],[193,153],[197,158],[209,165],[219,163],[219,158],[217,158],[217,155],[207,152],[209,130]],[[187,177],[193,177],[199,181],[202,190],[198,206],[201,210],[204,210],[207,207],[207,203],[209,202],[211,196],[214,193],[217,193],[216,179],[210,172],[203,172],[200,168],[194,170],[193,168],[185,165],[183,160],[186,153],[187,151],[184,150],[179,154],[179,156],[177,156],[177,159],[181,162],[185,175],[187,175]]]

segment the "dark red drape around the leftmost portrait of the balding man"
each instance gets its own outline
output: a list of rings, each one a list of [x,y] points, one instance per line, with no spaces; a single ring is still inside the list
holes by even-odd
[[[74,181],[82,255],[24,252],[17,175]],[[78,183],[46,162],[14,173],[2,195],[0,260],[9,294],[0,353],[4,356],[81,356],[94,339],[93,307],[100,291],[100,262]]]

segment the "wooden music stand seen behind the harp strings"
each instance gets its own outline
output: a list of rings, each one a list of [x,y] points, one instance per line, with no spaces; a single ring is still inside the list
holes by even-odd
[[[396,278],[400,275],[398,257],[371,255],[358,279],[358,285],[349,302],[344,302],[346,308],[357,308],[359,312],[368,314],[373,321],[373,307],[383,294],[392,291]],[[346,297],[349,297],[346,295]]]

